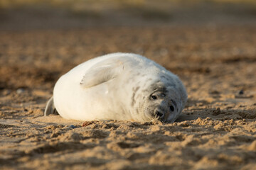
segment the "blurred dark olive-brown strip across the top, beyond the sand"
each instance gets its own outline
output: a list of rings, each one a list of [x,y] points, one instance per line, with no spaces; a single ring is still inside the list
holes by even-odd
[[[1,0],[1,30],[255,23],[254,0]]]

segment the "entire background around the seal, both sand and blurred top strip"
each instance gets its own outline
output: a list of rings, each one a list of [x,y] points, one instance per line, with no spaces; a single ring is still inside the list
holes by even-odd
[[[60,75],[134,52],[177,74],[176,123],[43,117]],[[1,169],[256,169],[256,1],[0,0]]]

